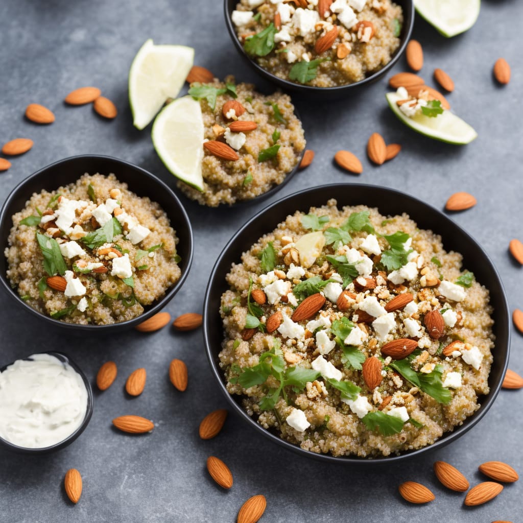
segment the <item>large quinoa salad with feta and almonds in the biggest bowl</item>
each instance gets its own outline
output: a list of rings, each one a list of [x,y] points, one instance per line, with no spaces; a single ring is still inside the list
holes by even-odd
[[[329,200],[261,237],[226,279],[220,367],[292,444],[380,457],[433,444],[480,407],[488,290],[408,215]]]

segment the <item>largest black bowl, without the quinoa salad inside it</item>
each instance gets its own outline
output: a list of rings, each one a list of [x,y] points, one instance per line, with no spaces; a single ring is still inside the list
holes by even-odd
[[[490,290],[490,300],[494,308],[493,329],[496,336],[494,363],[488,377],[491,391],[480,399],[481,406],[479,410],[467,418],[463,425],[454,428],[453,432],[445,434],[433,445],[404,452],[399,456],[386,458],[346,458],[316,454],[292,445],[280,439],[276,434],[264,429],[243,410],[241,396],[233,396],[225,388],[223,372],[218,365],[218,354],[220,353],[223,340],[223,327],[219,310],[220,297],[224,291],[229,289],[225,281],[225,275],[229,272],[231,264],[239,263],[243,252],[248,251],[259,237],[274,230],[278,223],[285,220],[295,210],[309,212],[310,207],[322,206],[331,198],[336,198],[339,207],[365,204],[369,207],[377,207],[382,214],[395,215],[406,212],[418,224],[420,229],[430,229],[440,234],[447,251],[452,250],[461,253],[463,255],[463,267],[473,271],[476,279]],[[214,377],[218,381],[219,388],[225,394],[233,410],[245,419],[249,425],[270,440],[287,449],[298,452],[302,456],[329,462],[352,464],[391,463],[419,456],[423,452],[438,449],[449,444],[470,430],[485,415],[496,399],[499,389],[501,389],[507,368],[510,342],[509,310],[501,279],[499,279],[490,258],[467,232],[434,207],[403,192],[371,185],[333,184],[305,189],[283,198],[259,212],[234,234],[214,265],[207,289],[203,305],[203,336],[207,357],[209,358]]]

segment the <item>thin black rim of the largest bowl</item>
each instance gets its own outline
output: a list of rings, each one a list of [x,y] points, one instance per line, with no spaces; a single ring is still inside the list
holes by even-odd
[[[385,191],[390,192],[391,196],[393,196],[393,197],[405,198],[407,200],[407,202],[410,201],[410,202],[415,202],[417,204],[421,203],[421,204],[423,204],[423,206],[426,206],[431,211],[435,211],[436,213],[438,213],[442,220],[449,222],[454,228],[456,228],[458,233],[467,237],[469,241],[471,241],[473,244],[475,244],[479,248],[479,250],[482,252],[482,254],[485,258],[485,261],[490,266],[492,275],[495,278],[499,291],[501,291],[500,299],[502,300],[502,304],[504,307],[504,316],[505,317],[504,317],[503,322],[498,322],[498,325],[502,324],[501,328],[503,328],[503,324],[504,324],[504,327],[505,327],[506,333],[507,333],[507,352],[506,352],[506,356],[505,356],[505,361],[503,362],[503,373],[501,374],[501,376],[503,377],[505,375],[505,372],[508,367],[508,359],[509,359],[509,355],[510,355],[510,321],[509,321],[509,313],[508,313],[509,308],[508,308],[508,301],[507,301],[507,297],[506,297],[505,289],[503,287],[502,280],[499,277],[498,271],[497,271],[495,265],[493,264],[490,256],[488,256],[485,249],[483,249],[483,247],[481,247],[481,245],[476,240],[474,240],[474,238],[467,231],[462,229],[460,225],[458,225],[456,222],[454,222],[453,220],[448,218],[439,209],[436,209],[435,207],[431,206],[430,204],[428,204],[422,200],[419,200],[418,198],[415,198],[414,196],[406,194],[405,192],[402,192],[402,191],[399,191],[399,190],[396,190],[396,189],[393,189],[390,187],[384,187],[384,186],[377,187],[377,186],[370,185],[370,184],[351,184],[351,183],[326,184],[326,185],[321,185],[321,186],[309,187],[307,189],[303,189],[303,190],[294,192],[293,194],[291,194],[285,198],[282,198],[276,202],[269,204],[267,207],[265,207],[264,209],[262,209],[258,213],[256,213],[240,229],[238,229],[234,233],[234,235],[231,237],[229,242],[222,249],[222,252],[218,256],[218,258],[214,264],[214,267],[211,271],[211,275],[209,277],[209,282],[207,285],[207,292],[206,292],[204,303],[203,303],[203,340],[204,340],[204,344],[205,344],[207,359],[209,360],[209,365],[211,367],[212,374],[213,374],[214,378],[217,380],[220,390],[225,395],[229,404],[233,407],[233,410],[238,415],[240,415],[240,417],[245,419],[250,426],[254,427],[259,433],[263,434],[265,437],[269,438],[271,441],[274,441],[275,443],[281,445],[282,447],[284,447],[288,450],[291,450],[293,452],[296,452],[296,453],[300,454],[301,456],[306,456],[306,457],[309,457],[312,459],[329,462],[329,463],[339,463],[339,464],[344,463],[344,464],[351,464],[351,465],[391,464],[391,463],[396,463],[397,461],[402,461],[402,460],[407,460],[407,459],[411,459],[414,457],[418,457],[423,452],[430,452],[430,451],[442,448],[442,447],[448,445],[449,443],[451,443],[452,441],[458,439],[463,434],[467,433],[474,425],[476,425],[476,423],[478,423],[480,421],[480,419],[483,418],[483,416],[490,409],[490,407],[494,403],[499,391],[501,390],[503,379],[500,379],[499,382],[493,388],[491,388],[490,392],[486,395],[486,400],[484,400],[481,404],[481,407],[482,407],[481,411],[474,413],[472,416],[469,416],[467,418],[467,420],[465,420],[465,423],[463,425],[456,427],[455,430],[453,430],[451,433],[446,433],[446,435],[444,437],[442,437],[441,439],[438,439],[432,445],[428,445],[426,447],[422,447],[420,449],[416,449],[416,450],[412,450],[412,451],[407,451],[405,453],[400,454],[399,456],[389,456],[389,457],[383,457],[383,458],[355,458],[355,457],[344,457],[344,456],[331,456],[330,454],[317,454],[315,452],[310,452],[308,450],[304,450],[301,447],[299,447],[298,445],[293,445],[290,442],[279,438],[277,435],[270,433],[268,430],[266,430],[261,425],[259,425],[254,418],[249,416],[242,409],[242,407],[234,401],[233,396],[226,390],[225,385],[223,384],[223,376],[222,376],[221,370],[219,369],[217,363],[215,362],[214,356],[213,356],[212,340],[210,338],[210,333],[209,333],[209,321],[210,321],[211,316],[213,314],[215,314],[215,311],[210,310],[210,307],[211,307],[210,289],[212,288],[215,277],[217,277],[218,266],[220,265],[222,258],[228,253],[229,248],[235,243],[236,238],[238,236],[240,236],[244,230],[249,228],[249,226],[251,226],[251,224],[253,222],[257,221],[261,215],[265,215],[265,214],[269,213],[272,208],[274,208],[276,206],[280,206],[281,204],[283,204],[283,202],[287,202],[287,203],[294,202],[294,200],[298,200],[301,196],[303,196],[305,194],[309,194],[310,192],[314,192],[314,191],[317,191],[318,189],[324,189],[324,188],[330,188],[332,193],[335,195],[337,189],[346,188],[346,187],[354,187],[354,188],[363,187],[363,188],[367,188],[367,189],[371,189],[371,190],[375,190],[375,189],[385,190]],[[296,207],[296,208],[298,209],[298,207]],[[294,207],[290,207],[290,209],[291,209],[291,212],[294,212],[294,210],[295,210]],[[277,224],[275,224],[275,226],[276,225]],[[257,238],[255,238],[255,240],[253,240],[253,242],[256,241],[256,239]],[[221,342],[221,340],[220,340],[220,342]]]

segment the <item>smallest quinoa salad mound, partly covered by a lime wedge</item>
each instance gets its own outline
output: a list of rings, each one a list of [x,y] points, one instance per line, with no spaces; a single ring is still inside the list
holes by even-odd
[[[178,187],[210,207],[264,194],[298,166],[305,149],[300,120],[289,95],[257,93],[251,84],[193,83],[204,124],[201,191],[183,181]]]

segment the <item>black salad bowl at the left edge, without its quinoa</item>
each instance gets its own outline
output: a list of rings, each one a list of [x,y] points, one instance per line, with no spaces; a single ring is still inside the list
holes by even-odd
[[[100,173],[105,175],[113,173],[119,181],[127,183],[129,189],[138,196],[148,196],[151,200],[160,204],[162,209],[167,213],[170,223],[176,231],[176,236],[179,238],[177,251],[181,257],[179,263],[181,269],[180,279],[166,291],[163,298],[152,305],[145,306],[145,311],[140,316],[132,320],[112,323],[110,325],[76,325],[65,323],[54,320],[50,316],[46,316],[31,308],[19,297],[17,291],[11,287],[6,276],[7,260],[3,254],[0,256],[0,281],[2,282],[2,287],[17,303],[24,306],[24,308],[33,315],[47,322],[74,329],[88,330],[90,332],[107,332],[107,329],[121,331],[122,329],[127,329],[142,323],[163,309],[180,289],[187,277],[192,261],[192,229],[187,213],[174,192],[170,190],[163,181],[156,178],[156,176],[129,162],[118,160],[110,156],[94,154],[72,156],[48,165],[22,181],[7,197],[0,212],[0,248],[3,252],[4,247],[7,246],[7,238],[13,226],[12,215],[24,209],[27,200],[29,200],[33,192],[40,192],[42,189],[54,190],[62,185],[73,183],[84,173]]]

